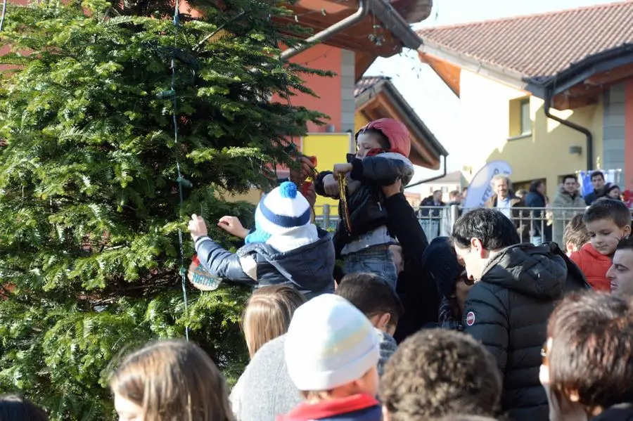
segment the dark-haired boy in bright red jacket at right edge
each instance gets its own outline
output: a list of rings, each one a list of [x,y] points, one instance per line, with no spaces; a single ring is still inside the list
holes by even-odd
[[[610,291],[606,273],[622,238],[631,233],[631,212],[620,200],[601,199],[593,202],[583,216],[589,243],[573,252],[570,259],[577,264],[594,290]]]

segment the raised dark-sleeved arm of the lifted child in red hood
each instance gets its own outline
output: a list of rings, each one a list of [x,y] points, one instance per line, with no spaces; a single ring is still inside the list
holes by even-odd
[[[380,186],[389,186],[397,180],[410,180],[414,174],[411,161],[397,153],[381,153],[362,160],[354,158],[351,164],[352,180],[371,181]]]

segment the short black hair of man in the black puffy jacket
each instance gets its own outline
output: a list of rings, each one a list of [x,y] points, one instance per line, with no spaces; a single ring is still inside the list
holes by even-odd
[[[470,247],[479,238],[486,250],[501,250],[521,242],[512,221],[494,209],[473,209],[457,219],[451,235],[457,247]]]

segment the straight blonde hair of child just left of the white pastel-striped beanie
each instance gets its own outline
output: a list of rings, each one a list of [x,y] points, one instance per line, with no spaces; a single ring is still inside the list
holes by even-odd
[[[250,296],[242,313],[242,330],[250,358],[265,343],[288,331],[293,313],[305,302],[305,295],[290,285],[261,287]]]

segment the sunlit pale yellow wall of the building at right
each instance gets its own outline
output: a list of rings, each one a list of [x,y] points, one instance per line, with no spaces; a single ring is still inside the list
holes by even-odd
[[[585,169],[586,138],[583,134],[546,117],[544,101],[530,97],[532,134],[511,138],[520,131],[518,98],[528,94],[499,84],[468,70],[461,71],[460,157],[464,166],[478,171],[486,162],[504,160],[512,167],[513,182],[546,179],[547,195],[554,199],[558,177]],[[515,101],[513,101],[515,100]],[[603,105],[577,110],[551,110],[571,122],[587,127],[594,135],[594,165],[602,151]],[[581,155],[571,155],[569,147],[582,147]]]

